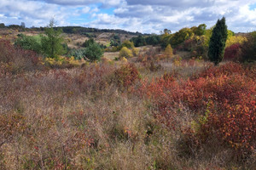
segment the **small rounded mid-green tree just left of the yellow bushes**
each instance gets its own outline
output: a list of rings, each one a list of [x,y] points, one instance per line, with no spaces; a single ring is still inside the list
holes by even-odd
[[[89,46],[85,48],[84,54],[90,61],[95,61],[102,58],[103,50],[98,43],[90,43]]]

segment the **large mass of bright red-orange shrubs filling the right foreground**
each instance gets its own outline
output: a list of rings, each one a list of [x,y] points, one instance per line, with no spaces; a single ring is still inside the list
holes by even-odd
[[[156,119],[166,126],[177,127],[182,104],[207,119],[192,133],[195,138],[217,135],[222,144],[249,151],[256,147],[256,82],[250,73],[255,75],[255,68],[229,63],[183,82],[166,77],[144,81],[138,92],[153,103]]]

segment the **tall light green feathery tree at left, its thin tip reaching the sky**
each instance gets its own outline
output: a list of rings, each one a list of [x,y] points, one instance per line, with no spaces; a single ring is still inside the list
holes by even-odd
[[[61,29],[55,30],[55,20],[49,21],[49,26],[45,28],[45,36],[42,36],[43,53],[50,58],[56,58],[60,54],[64,54],[65,50],[62,46],[63,37],[61,37]]]

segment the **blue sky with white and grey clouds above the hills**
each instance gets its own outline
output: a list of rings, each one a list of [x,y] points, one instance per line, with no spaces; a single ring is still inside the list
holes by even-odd
[[[210,28],[223,16],[231,31],[256,31],[256,0],[0,0],[6,26],[47,26],[54,18],[56,26],[159,34],[165,28]]]

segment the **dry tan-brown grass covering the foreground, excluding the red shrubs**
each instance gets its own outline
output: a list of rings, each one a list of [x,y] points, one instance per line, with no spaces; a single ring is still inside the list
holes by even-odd
[[[148,47],[150,48],[150,47]],[[106,53],[108,59],[114,54]],[[135,62],[136,59],[131,59]],[[173,59],[150,71],[135,63],[141,80],[165,74],[182,82],[211,64]],[[154,103],[137,94],[137,81],[120,88],[122,62],[0,75],[0,169],[253,169],[255,155],[237,161],[233,150],[208,140],[188,144],[183,130],[195,111],[181,101],[176,129],[160,122]],[[209,147],[211,146],[211,147]]]

